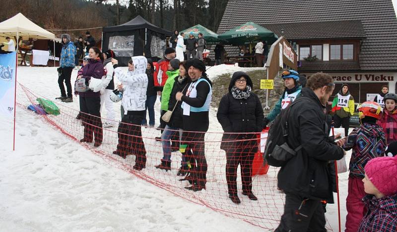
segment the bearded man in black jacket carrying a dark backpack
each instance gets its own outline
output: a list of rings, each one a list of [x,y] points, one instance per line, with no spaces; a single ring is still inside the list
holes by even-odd
[[[281,111],[270,128],[265,159],[278,172],[285,192],[284,214],[275,232],[327,231],[322,201],[332,199],[329,161],[345,154],[328,136],[325,105],[335,85],[324,73],[312,75],[302,96]],[[273,129],[273,130],[272,130]]]

